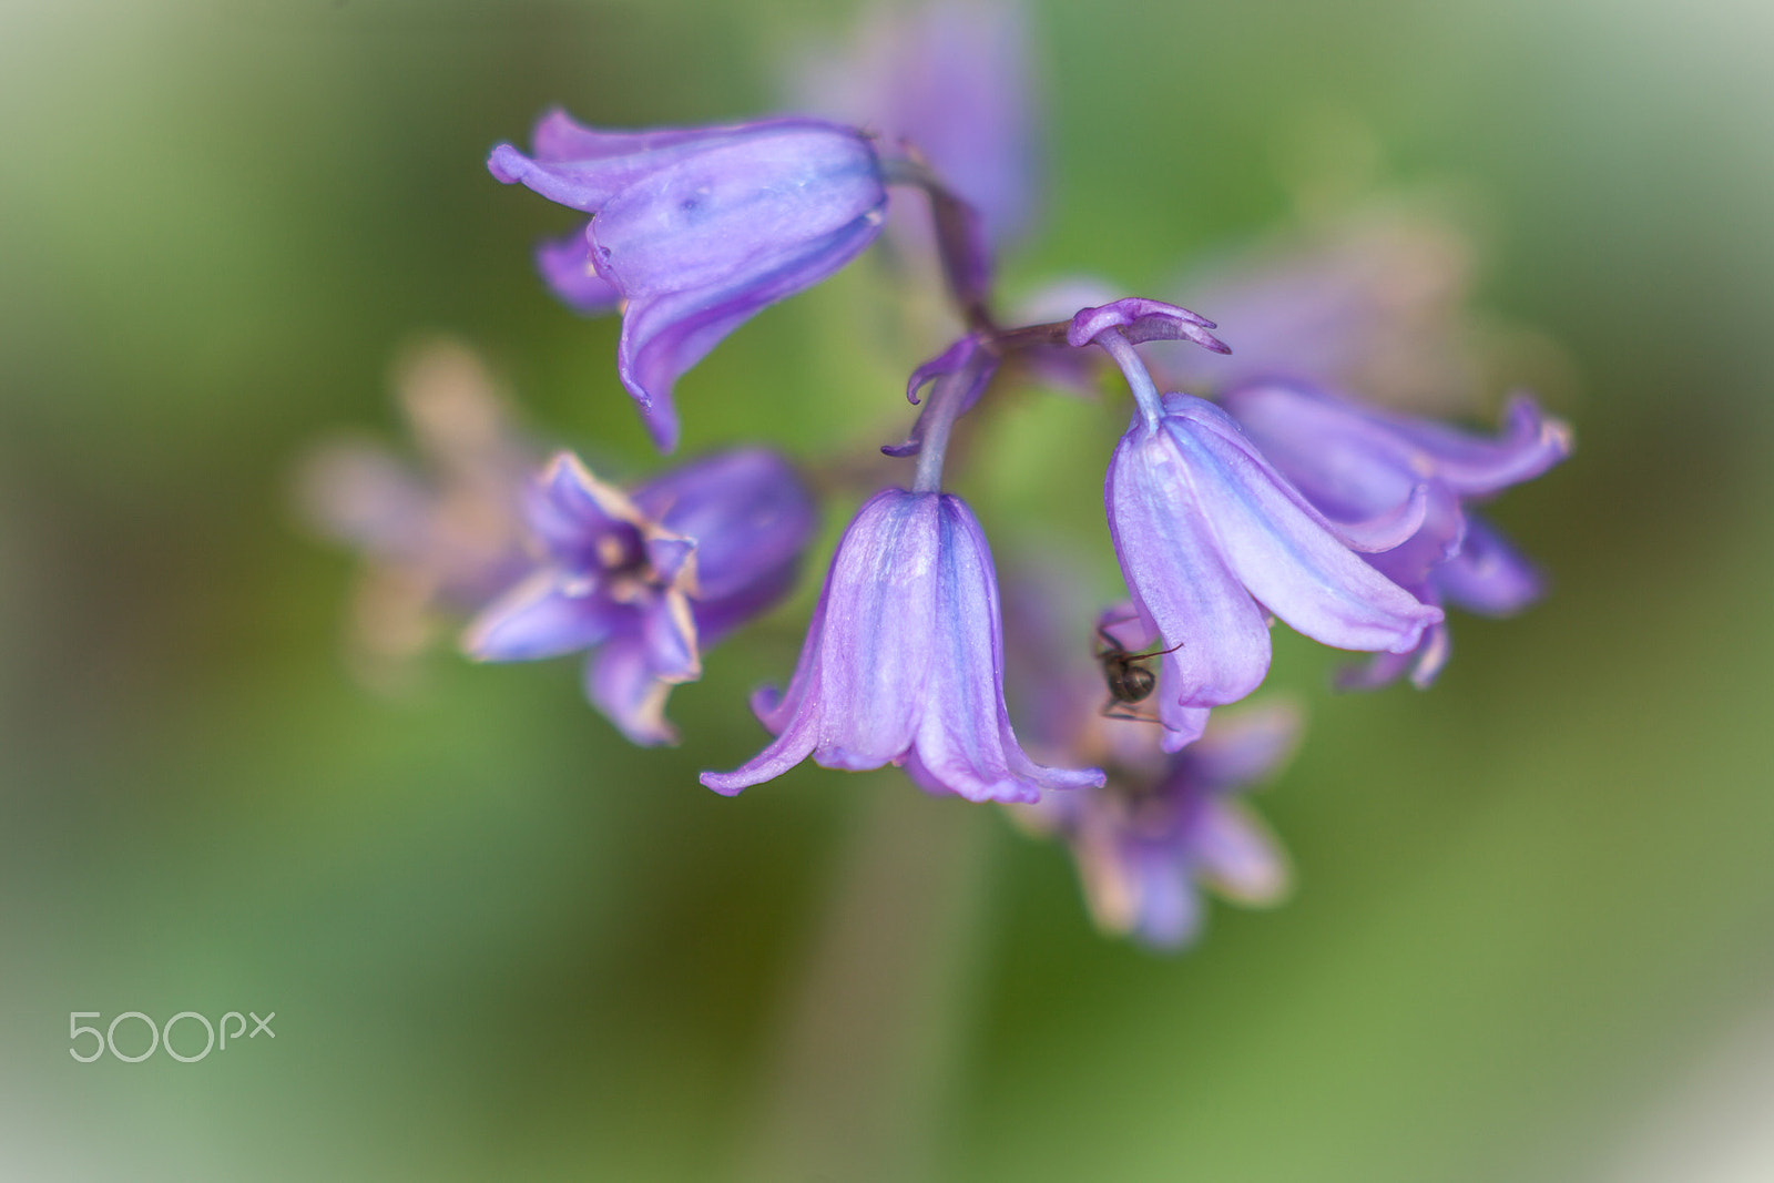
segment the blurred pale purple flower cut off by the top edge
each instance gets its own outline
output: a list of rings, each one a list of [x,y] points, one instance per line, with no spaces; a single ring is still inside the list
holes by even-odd
[[[1036,105],[1018,5],[875,7],[848,51],[825,50],[798,73],[798,108],[908,145],[979,213],[992,245],[1027,225]]]

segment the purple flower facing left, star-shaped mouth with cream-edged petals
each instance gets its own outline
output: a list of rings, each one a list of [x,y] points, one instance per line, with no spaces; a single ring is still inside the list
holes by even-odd
[[[773,452],[747,449],[669,472],[632,495],[571,454],[530,488],[541,566],[474,623],[483,662],[594,649],[585,695],[635,743],[669,743],[665,697],[701,678],[701,653],[795,578],[814,507]]]

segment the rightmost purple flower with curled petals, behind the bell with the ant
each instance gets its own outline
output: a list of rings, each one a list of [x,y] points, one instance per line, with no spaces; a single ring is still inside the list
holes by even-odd
[[[1423,603],[1448,599],[1508,615],[1538,598],[1540,578],[1467,505],[1538,477],[1570,454],[1572,436],[1527,396],[1510,401],[1503,431],[1487,440],[1455,427],[1359,406],[1299,383],[1228,390],[1226,410],[1306,498],[1332,521],[1398,513],[1426,490],[1421,529],[1368,562]],[[1377,656],[1345,685],[1375,686],[1410,672],[1426,686],[1448,658],[1446,624],[1433,624],[1410,654]]]

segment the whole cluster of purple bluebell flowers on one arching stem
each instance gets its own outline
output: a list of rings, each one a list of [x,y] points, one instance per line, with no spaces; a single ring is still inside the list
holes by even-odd
[[[1286,332],[1304,291],[1286,271],[1228,302],[1252,310],[1263,342],[1244,365],[1194,364],[1238,358],[1235,319],[1221,328],[1162,300],[1109,294],[1004,323],[995,255],[1036,206],[1020,18],[944,7],[871,28],[859,64],[814,71],[814,114],[617,131],[550,112],[529,153],[498,144],[488,168],[587,215],[541,243],[536,266],[571,309],[621,312],[616,372],[663,452],[679,438],[679,380],[761,309],[857,259],[908,204],[922,223],[910,248],[928,252],[954,330],[910,369],[915,420],[880,449],[907,479],[852,490],[862,504],[800,660],[752,701],[772,738],[703,784],[736,795],[809,757],[894,764],[928,793],[1001,802],[1061,835],[1105,929],[1187,944],[1199,885],[1249,903],[1286,889],[1279,846],[1238,798],[1279,770],[1299,713],[1217,713],[1265,681],[1274,623],[1373,654],[1345,685],[1426,686],[1446,662],[1448,607],[1503,615],[1540,594],[1538,571],[1474,507],[1565,458],[1570,431],[1526,396],[1495,436],[1364,401],[1354,371],[1325,360],[1346,360],[1338,349],[1373,319],[1334,270],[1304,293],[1316,335]],[[1325,330],[1338,316],[1345,328]],[[1102,456],[1126,599],[1006,630],[986,532],[947,484],[951,436],[1029,374],[1095,388],[1100,372],[1132,396]],[[763,447],[626,490],[557,454],[506,495],[527,559],[472,605],[465,649],[589,651],[585,693],[635,743],[674,740],[669,690],[791,589],[816,520],[793,465]]]

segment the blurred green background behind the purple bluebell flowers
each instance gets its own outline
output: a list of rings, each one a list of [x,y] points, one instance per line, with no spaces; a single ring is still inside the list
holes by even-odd
[[[1774,1009],[1760,0],[1034,5],[1052,192],[1013,282],[1158,294],[1359,128],[1377,188],[1474,211],[1483,305],[1572,374],[1577,456],[1495,514],[1552,596],[1456,621],[1432,693],[1329,695],[1283,642],[1313,718],[1261,807],[1299,890],[1217,906],[1189,954],[1098,936],[1061,850],[898,773],[701,789],[756,750],[743,693],[805,596],[674,697],[669,752],[624,747],[573,662],[348,678],[353,562],[289,472],[337,426],[397,438],[415,335],[483,349],[539,433],[655,463],[614,323],[530,271],[571,216],[486,149],[552,103],[768,110],[853,16],[0,4],[0,1174],[1714,1178],[1731,1128],[1669,1114]],[[687,450],[892,438],[917,358],[864,341],[869,300],[846,275],[720,346]],[[986,529],[1041,514],[1107,578],[1100,461],[1066,442],[1107,450],[1119,411],[1017,415]],[[247,1009],[275,1041],[67,1055],[69,1011]],[[1774,1068],[1746,1071],[1774,1126]],[[1691,1149],[1655,1174],[1666,1124]]]

